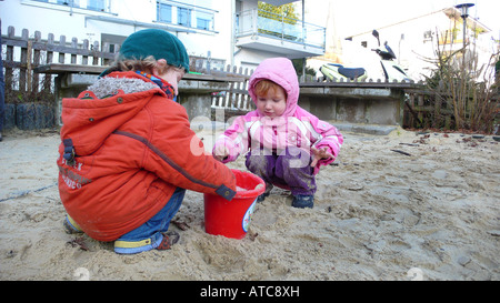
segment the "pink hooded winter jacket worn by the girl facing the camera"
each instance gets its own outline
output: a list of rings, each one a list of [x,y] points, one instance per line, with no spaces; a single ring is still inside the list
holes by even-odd
[[[223,134],[216,141],[213,151],[224,144],[229,156],[222,162],[234,161],[240,154],[252,149],[284,150],[297,147],[310,153],[310,148],[328,147],[334,158],[343,143],[342,134],[333,125],[319,120],[313,114],[300,108],[299,81],[292,62],[287,58],[271,58],[262,61],[252,73],[249,81],[249,94],[257,104],[254,87],[260,80],[270,80],[281,85],[287,92],[287,108],[281,117],[268,118],[259,110],[238,117]],[[320,160],[314,168],[314,174],[321,165],[333,162],[334,159]]]

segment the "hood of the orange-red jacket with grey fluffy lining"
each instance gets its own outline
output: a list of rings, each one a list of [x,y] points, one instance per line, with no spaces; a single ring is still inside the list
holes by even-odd
[[[100,78],[78,98],[62,100],[61,138],[73,140],[77,154],[90,154],[156,94],[166,97],[156,83],[133,71]]]

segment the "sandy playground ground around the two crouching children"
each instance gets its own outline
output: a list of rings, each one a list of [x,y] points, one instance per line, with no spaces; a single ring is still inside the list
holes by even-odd
[[[314,208],[274,189],[243,240],[204,232],[202,194],[170,251],[119,255],[64,233],[57,132],[0,143],[1,280],[500,280],[500,147],[491,137],[343,133]],[[207,147],[211,132],[201,130]],[[401,153],[404,152],[404,153]],[[229,166],[246,170],[243,158]]]

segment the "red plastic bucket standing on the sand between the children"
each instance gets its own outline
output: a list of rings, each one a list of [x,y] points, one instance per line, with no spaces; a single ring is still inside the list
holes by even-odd
[[[209,234],[243,239],[256,208],[257,198],[266,191],[266,183],[259,176],[231,170],[238,191],[231,201],[217,194],[203,194],[204,231]]]

